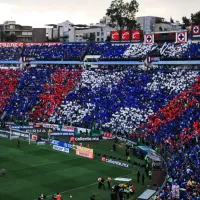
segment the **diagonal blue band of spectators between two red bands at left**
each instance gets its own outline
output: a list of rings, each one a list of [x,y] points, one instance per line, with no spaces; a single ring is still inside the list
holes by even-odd
[[[39,95],[44,91],[45,83],[50,82],[53,67],[37,66],[27,68],[10,98],[5,110],[6,117],[27,117],[37,103]]]

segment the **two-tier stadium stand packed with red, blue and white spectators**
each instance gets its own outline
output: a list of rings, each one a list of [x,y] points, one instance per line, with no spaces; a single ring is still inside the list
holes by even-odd
[[[29,46],[37,60],[198,60],[200,43],[84,43]],[[19,60],[22,48],[0,48],[0,59]],[[65,123],[140,137],[166,160],[168,181],[161,199],[198,199],[200,188],[200,73],[195,66],[36,66],[0,69],[0,115],[34,122]],[[21,78],[20,78],[21,77]],[[178,185],[178,186],[177,186]]]

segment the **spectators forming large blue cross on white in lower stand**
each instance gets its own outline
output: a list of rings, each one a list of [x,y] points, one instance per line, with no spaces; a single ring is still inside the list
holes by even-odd
[[[129,67],[86,69],[51,121],[92,123],[127,133],[190,87],[197,76],[197,70],[165,67],[148,72]]]

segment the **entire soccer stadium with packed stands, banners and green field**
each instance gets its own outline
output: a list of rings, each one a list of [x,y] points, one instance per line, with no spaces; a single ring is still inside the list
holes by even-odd
[[[0,200],[200,200],[200,25],[109,34],[0,42]]]

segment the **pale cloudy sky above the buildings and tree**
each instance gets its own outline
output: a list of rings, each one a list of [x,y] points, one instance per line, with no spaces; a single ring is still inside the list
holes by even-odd
[[[128,0],[125,0],[128,2]],[[158,16],[181,22],[199,11],[199,0],[137,0],[136,16]],[[35,28],[66,20],[74,24],[98,23],[111,0],[0,0],[0,23],[13,20]],[[199,9],[199,10],[198,10]]]

